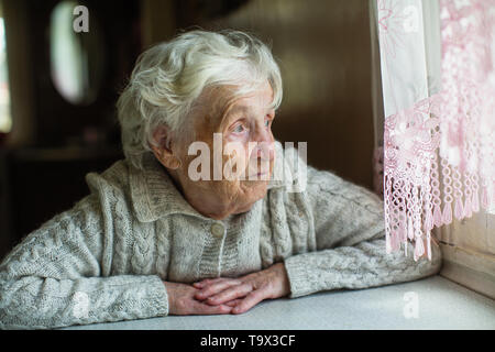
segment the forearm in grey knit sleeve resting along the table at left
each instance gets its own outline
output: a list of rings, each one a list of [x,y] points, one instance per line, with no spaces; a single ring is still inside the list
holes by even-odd
[[[168,314],[156,275],[55,279],[0,274],[0,328],[50,329]]]

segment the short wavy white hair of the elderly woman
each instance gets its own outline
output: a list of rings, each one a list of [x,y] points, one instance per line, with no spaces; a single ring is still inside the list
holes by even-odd
[[[195,30],[153,46],[138,58],[117,102],[122,147],[128,161],[142,168],[143,156],[156,145],[153,131],[166,125],[184,135],[194,102],[207,87],[233,85],[245,95],[268,81],[272,108],[282,101],[282,77],[270,48],[244,32]],[[170,135],[167,135],[167,144]]]

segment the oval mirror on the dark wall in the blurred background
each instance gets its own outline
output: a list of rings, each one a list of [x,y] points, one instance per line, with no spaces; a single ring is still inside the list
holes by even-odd
[[[98,96],[105,67],[101,36],[96,18],[77,1],[62,1],[53,9],[50,23],[52,81],[61,96],[73,105],[91,103]]]

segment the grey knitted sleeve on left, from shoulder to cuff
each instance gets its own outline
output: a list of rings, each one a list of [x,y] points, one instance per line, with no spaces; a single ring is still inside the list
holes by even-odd
[[[111,256],[108,237],[96,194],[30,233],[0,264],[0,328],[167,315],[168,298],[157,275],[103,275],[102,262]]]

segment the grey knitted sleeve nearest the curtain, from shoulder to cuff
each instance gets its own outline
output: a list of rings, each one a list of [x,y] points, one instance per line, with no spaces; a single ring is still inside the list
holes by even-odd
[[[441,253],[414,261],[413,244],[387,254],[383,201],[364,187],[308,166],[317,251],[285,258],[290,298],[331,289],[409,282],[440,271]]]

